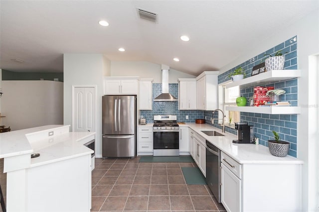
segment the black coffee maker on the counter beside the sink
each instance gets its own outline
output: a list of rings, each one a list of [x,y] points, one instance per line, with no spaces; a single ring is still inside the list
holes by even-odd
[[[235,129],[238,130],[238,140],[233,140],[233,143],[253,143],[253,126],[248,125],[247,122],[235,122]]]

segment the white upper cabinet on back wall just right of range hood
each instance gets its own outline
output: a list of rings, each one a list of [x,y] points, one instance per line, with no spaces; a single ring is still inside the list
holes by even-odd
[[[178,79],[179,81],[179,109],[196,109],[196,80]]]

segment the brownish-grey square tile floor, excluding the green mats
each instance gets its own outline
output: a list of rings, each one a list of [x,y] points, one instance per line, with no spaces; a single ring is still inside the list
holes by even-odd
[[[180,167],[194,163],[139,163],[136,159],[95,159],[92,210],[225,211],[206,185],[187,185]]]

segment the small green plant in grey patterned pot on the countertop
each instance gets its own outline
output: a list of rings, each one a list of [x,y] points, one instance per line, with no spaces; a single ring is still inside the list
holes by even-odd
[[[276,157],[286,157],[289,150],[289,142],[280,140],[280,136],[276,131],[272,131],[275,140],[268,140],[268,148],[272,155]]]

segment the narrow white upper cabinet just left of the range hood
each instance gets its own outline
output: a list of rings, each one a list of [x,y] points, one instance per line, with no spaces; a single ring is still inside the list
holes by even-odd
[[[140,92],[139,92],[139,109],[152,110],[152,81],[153,79],[141,79],[140,80]]]

